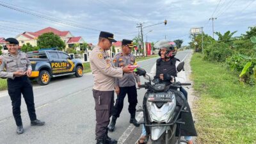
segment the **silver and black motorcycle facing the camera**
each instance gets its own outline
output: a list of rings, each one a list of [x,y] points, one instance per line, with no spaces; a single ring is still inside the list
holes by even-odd
[[[180,72],[184,67],[184,62],[181,62],[177,67]],[[142,68],[137,68],[138,74],[148,76]],[[148,76],[150,77],[150,76]],[[152,82],[154,84],[152,84]],[[143,111],[144,122],[147,135],[150,136],[152,144],[180,144],[186,143],[181,140],[181,126],[185,122],[180,118],[182,113],[189,113],[186,106],[187,100],[183,93],[178,89],[181,86],[188,86],[190,83],[159,83],[159,79],[154,79],[145,84],[141,84],[140,88],[145,88],[147,92],[143,99],[143,108],[138,111]],[[138,89],[140,89],[138,88]]]

